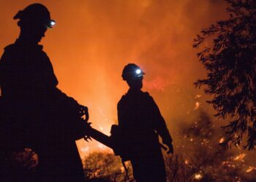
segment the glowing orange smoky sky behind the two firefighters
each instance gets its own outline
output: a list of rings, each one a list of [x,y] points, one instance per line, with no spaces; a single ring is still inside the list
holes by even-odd
[[[205,76],[192,40],[200,29],[225,17],[225,1],[1,0],[1,54],[18,37],[12,17],[34,2],[45,4],[56,20],[41,44],[59,88],[89,107],[93,127],[108,133],[116,123],[116,104],[128,89],[121,79],[127,63],[146,72],[143,90],[158,103],[170,132],[186,120],[184,113],[205,104],[203,90],[192,84]],[[196,95],[203,95],[200,104]],[[97,149],[96,142],[78,141],[78,146],[81,156]]]

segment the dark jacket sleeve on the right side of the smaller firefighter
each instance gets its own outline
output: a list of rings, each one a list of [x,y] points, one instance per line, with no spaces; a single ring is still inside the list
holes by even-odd
[[[150,96],[151,98],[151,96]],[[173,139],[170,136],[170,132],[167,129],[165,124],[165,119],[163,118],[162,114],[159,111],[157,103],[155,103],[154,99],[151,98],[151,103],[153,105],[153,113],[154,113],[154,129],[162,138],[162,143],[172,143]]]

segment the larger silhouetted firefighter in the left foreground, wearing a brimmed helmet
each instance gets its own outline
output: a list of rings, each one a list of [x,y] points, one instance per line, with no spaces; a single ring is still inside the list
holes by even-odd
[[[83,181],[75,140],[86,134],[82,116],[88,111],[57,88],[50,59],[38,44],[55,21],[42,4],[29,5],[14,19],[19,20],[20,36],[5,47],[0,61],[1,152],[24,147],[37,152],[35,181]],[[1,181],[7,176],[22,181],[4,162]]]

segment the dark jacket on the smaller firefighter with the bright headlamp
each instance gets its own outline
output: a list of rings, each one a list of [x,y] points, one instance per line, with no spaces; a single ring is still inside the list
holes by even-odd
[[[118,102],[118,124],[124,133],[124,140],[130,143],[127,150],[138,154],[159,148],[158,135],[163,143],[171,143],[157,104],[148,92],[129,90]]]

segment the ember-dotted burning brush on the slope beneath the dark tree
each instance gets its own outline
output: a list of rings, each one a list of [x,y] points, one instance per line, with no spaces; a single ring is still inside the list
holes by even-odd
[[[230,150],[206,112],[200,109],[197,121],[177,134],[176,154],[166,158],[168,181],[255,181],[247,151]]]

